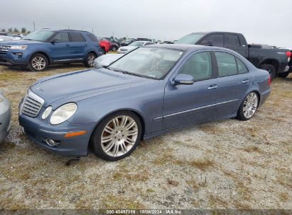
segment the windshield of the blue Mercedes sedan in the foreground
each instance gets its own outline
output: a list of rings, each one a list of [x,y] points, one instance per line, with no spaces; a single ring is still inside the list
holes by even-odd
[[[138,76],[161,79],[168,74],[183,55],[180,50],[168,50],[159,47],[141,47],[126,54],[108,69]]]

